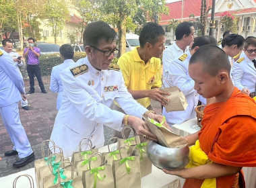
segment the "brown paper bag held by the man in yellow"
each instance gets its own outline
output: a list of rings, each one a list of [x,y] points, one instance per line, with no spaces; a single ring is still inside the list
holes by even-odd
[[[162,78],[162,80],[166,81],[169,87],[164,86],[164,82],[162,81],[162,85],[164,88],[160,88],[162,91],[169,92],[170,95],[163,95],[167,99],[169,99],[169,102],[167,105],[165,105],[165,109],[167,112],[169,111],[185,111],[187,109],[187,106],[189,105],[187,103],[187,99],[185,95],[182,93],[182,91],[177,86],[170,87],[170,83],[167,79]]]

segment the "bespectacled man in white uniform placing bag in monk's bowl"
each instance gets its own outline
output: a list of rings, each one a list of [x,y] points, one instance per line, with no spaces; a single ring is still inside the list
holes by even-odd
[[[156,140],[141,115],[158,122],[162,121],[162,116],[148,111],[132,98],[119,66],[111,64],[113,53],[117,51],[116,35],[104,21],[89,23],[84,31],[86,58],[61,73],[63,102],[51,140],[63,149],[65,157],[78,151],[82,138],[90,138],[96,148],[103,146],[103,124],[119,131],[130,125],[138,135]],[[114,99],[129,115],[110,109]],[[164,125],[167,126],[166,122]]]

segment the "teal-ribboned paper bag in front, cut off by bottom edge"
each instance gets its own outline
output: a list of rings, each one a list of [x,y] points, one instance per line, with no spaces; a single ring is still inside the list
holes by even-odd
[[[65,170],[65,164],[69,164],[71,166],[71,177],[68,177],[67,175],[67,180],[63,180],[61,178],[61,173],[58,174],[58,183],[56,185],[52,185],[49,188],[82,188],[83,183],[82,183],[82,177],[81,176],[75,176],[75,170],[73,167],[73,164],[71,162],[62,162],[61,165],[59,166],[59,171],[62,171],[62,169]]]

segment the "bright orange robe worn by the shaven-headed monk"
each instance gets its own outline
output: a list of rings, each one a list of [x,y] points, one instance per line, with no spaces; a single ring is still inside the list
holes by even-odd
[[[204,109],[199,132],[201,149],[218,164],[256,167],[256,103],[236,87],[228,101]],[[233,187],[237,175],[217,177],[217,188]],[[186,188],[199,188],[203,179],[186,179]],[[245,187],[242,171],[240,188]]]

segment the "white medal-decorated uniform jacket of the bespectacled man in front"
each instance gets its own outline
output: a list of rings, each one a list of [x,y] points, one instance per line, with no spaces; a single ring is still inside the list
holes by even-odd
[[[127,91],[121,71],[110,68],[98,71],[88,57],[65,68],[61,72],[61,81],[63,102],[55,119],[51,140],[63,149],[65,157],[78,151],[82,138],[90,138],[96,148],[103,146],[103,124],[121,130],[125,114],[110,109],[114,99],[129,115],[141,118],[141,114],[148,110]]]

